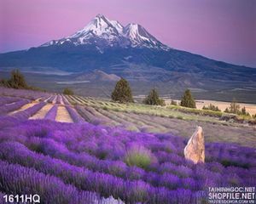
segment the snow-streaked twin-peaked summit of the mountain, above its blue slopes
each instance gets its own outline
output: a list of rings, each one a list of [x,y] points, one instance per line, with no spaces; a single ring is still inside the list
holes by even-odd
[[[143,26],[129,24],[124,27],[118,21],[108,20],[102,14],[97,14],[87,26],[73,35],[46,42],[41,47],[61,44],[73,44],[75,46],[92,44],[100,50],[105,46],[170,49],[148,33]]]

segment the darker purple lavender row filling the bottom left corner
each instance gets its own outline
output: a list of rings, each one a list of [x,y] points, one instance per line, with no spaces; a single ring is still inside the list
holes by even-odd
[[[121,203],[102,199],[100,195],[90,191],[77,190],[59,178],[39,173],[32,168],[5,161],[0,161],[0,166],[0,186],[9,190],[12,195],[37,194],[40,195],[41,203]]]

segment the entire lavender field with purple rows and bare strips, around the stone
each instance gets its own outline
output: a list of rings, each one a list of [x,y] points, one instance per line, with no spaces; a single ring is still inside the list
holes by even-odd
[[[206,138],[206,162],[194,164],[183,156],[188,138],[168,124],[180,115],[171,117],[168,110],[145,114],[144,106],[8,88],[0,95],[1,197],[38,194],[41,203],[60,204],[207,203],[208,187],[256,185],[253,133],[244,135],[242,145]]]

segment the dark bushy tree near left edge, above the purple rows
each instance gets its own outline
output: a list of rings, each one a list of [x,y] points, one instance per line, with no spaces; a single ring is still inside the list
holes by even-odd
[[[11,77],[7,82],[9,88],[28,88],[25,77],[19,70],[12,71]]]

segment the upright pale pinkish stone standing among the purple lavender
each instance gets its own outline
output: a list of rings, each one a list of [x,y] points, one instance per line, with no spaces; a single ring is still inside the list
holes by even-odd
[[[188,144],[184,149],[184,156],[187,160],[205,162],[205,139],[200,126],[196,127],[195,133],[189,139]]]

